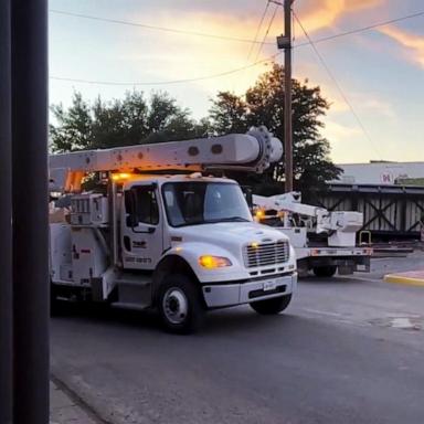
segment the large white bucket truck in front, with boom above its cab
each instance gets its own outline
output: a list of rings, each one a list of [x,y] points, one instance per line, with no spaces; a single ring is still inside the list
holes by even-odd
[[[284,310],[297,283],[288,237],[253,220],[235,181],[209,176],[262,172],[282,153],[280,141],[261,127],[51,156],[59,198],[50,225],[52,305],[155,308],[173,332],[195,330],[206,309]],[[104,186],[83,192],[93,173],[103,173]]]

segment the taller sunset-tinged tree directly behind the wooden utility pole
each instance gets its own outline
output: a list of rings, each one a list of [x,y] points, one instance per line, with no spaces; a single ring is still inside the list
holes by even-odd
[[[251,126],[265,125],[284,139],[284,67],[274,64],[244,96],[219,93],[210,109],[212,134],[244,132]],[[321,118],[329,108],[319,87],[308,81],[293,81],[294,187],[306,195],[322,189],[325,182],[337,178],[341,170],[329,158],[330,145],[320,136]],[[241,177],[264,194],[284,190],[284,161],[272,167],[261,179]]]

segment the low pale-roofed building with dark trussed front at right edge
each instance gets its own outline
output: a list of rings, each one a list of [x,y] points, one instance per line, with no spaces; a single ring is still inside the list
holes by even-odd
[[[339,166],[318,204],[330,211],[358,211],[372,241],[422,237],[424,162],[370,162]]]

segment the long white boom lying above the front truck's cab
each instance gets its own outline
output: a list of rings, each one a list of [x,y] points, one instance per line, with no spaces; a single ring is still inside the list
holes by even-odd
[[[98,171],[232,169],[262,172],[282,155],[282,142],[265,127],[252,128],[245,135],[52,155],[51,190],[78,192],[82,179]]]

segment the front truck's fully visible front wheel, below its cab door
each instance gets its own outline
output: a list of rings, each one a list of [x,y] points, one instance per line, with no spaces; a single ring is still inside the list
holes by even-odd
[[[158,308],[166,330],[188,335],[204,324],[205,305],[200,287],[186,275],[163,278],[158,296]]]

